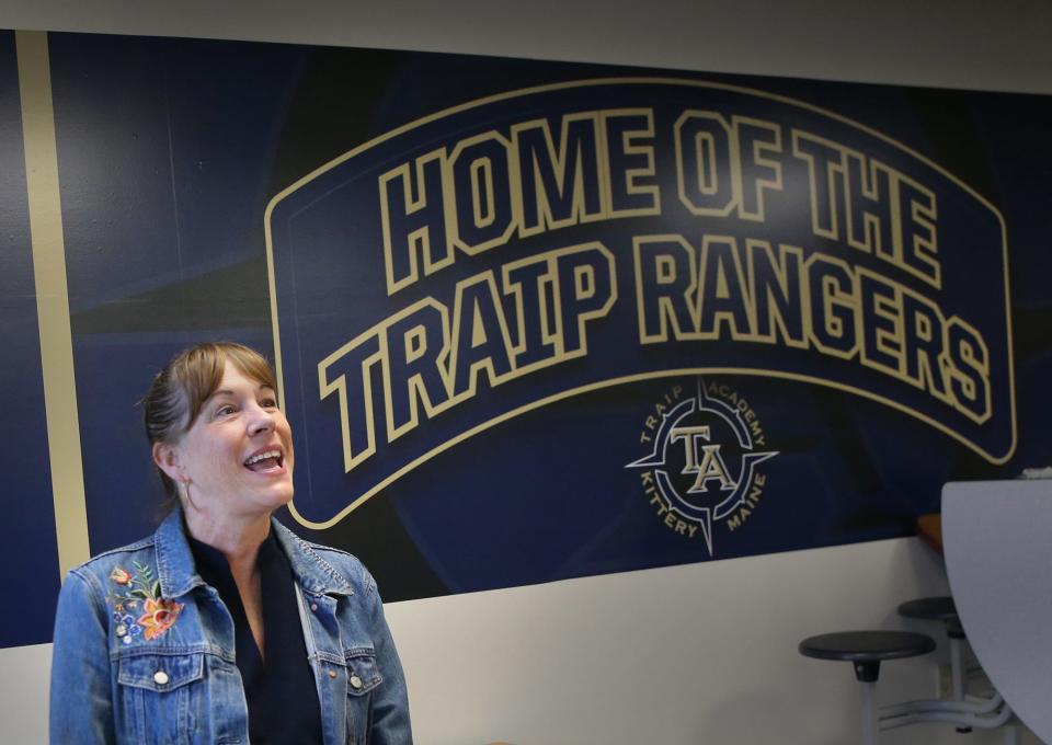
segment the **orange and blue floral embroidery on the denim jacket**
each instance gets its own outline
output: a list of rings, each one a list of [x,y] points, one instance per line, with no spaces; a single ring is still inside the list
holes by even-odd
[[[136,638],[158,639],[179,619],[182,603],[161,597],[161,583],[153,578],[153,570],[137,561],[132,562],[135,574],[121,566],[110,572],[110,581],[117,585],[106,594],[113,606],[114,633],[122,643]]]

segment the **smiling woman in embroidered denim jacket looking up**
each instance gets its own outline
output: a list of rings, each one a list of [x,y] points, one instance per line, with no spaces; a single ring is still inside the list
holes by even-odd
[[[293,497],[274,375],[231,343],[176,355],[144,402],[173,509],[70,572],[53,743],[412,742],[376,584],[273,519]]]

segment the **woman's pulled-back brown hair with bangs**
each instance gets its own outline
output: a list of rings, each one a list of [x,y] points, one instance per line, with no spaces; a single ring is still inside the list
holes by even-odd
[[[151,447],[174,443],[194,426],[201,406],[222,382],[228,362],[253,380],[277,390],[274,370],[255,349],[236,342],[205,342],[187,347],[157,374],[142,399],[146,438]],[[157,470],[169,501],[174,501],[175,483],[160,468]]]

